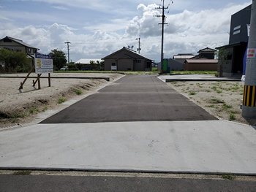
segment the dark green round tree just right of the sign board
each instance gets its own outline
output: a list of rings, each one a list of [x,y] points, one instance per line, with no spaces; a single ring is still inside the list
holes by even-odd
[[[49,55],[53,56],[53,67],[54,70],[59,70],[61,69],[62,66],[67,65],[67,58],[66,54],[62,50],[51,50]]]

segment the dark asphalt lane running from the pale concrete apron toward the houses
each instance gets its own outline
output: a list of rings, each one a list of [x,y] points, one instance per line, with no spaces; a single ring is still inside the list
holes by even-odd
[[[217,120],[154,75],[127,75],[41,123]]]

